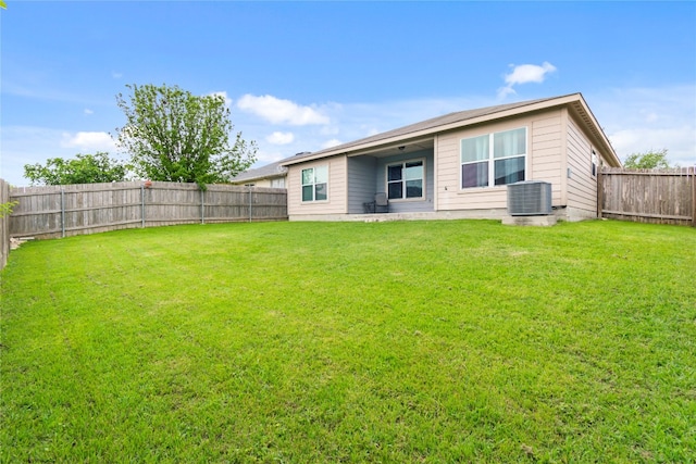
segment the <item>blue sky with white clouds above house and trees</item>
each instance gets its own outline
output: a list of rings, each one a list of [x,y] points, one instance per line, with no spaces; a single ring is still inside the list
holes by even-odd
[[[621,159],[696,164],[696,2],[13,1],[0,177],[108,151],[127,84],[222,93],[266,164],[452,111],[582,92]]]

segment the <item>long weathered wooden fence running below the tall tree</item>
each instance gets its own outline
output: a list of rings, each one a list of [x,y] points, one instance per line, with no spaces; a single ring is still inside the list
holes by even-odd
[[[11,237],[57,238],[136,227],[287,220],[285,189],[113,183],[10,189]]]

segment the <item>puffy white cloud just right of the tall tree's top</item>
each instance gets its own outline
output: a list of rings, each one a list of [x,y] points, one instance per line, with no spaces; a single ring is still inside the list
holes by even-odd
[[[304,126],[330,123],[328,116],[315,108],[301,106],[290,100],[283,100],[270,95],[257,97],[247,93],[237,101],[237,108],[261,116],[273,124]]]

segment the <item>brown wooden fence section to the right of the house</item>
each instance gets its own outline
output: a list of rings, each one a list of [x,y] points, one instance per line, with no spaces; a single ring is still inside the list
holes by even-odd
[[[605,167],[597,180],[599,217],[696,227],[696,167]]]

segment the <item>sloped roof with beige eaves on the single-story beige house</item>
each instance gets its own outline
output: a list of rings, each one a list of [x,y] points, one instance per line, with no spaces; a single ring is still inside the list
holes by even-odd
[[[592,114],[583,96],[581,93],[571,93],[562,97],[543,98],[537,100],[527,100],[517,103],[499,104],[495,106],[480,108],[475,110],[459,111],[449,113],[444,116],[433,117],[420,123],[399,127],[385,133],[376,134],[371,137],[341,143],[325,150],[311,153],[301,153],[299,155],[288,158],[281,162],[282,165],[301,163],[304,161],[344,154],[347,152],[356,152],[361,150],[370,150],[372,148],[385,146],[387,143],[398,143],[403,140],[413,140],[421,137],[432,137],[436,133],[444,130],[461,128],[474,124],[481,124],[489,121],[500,120],[504,117],[515,116],[519,114],[547,110],[554,106],[569,105],[569,108],[583,121],[589,131],[593,134],[598,143],[602,145],[607,153],[611,153],[614,158],[617,166],[621,165],[619,156],[616,154],[609,139],[601,130],[599,123]]]

